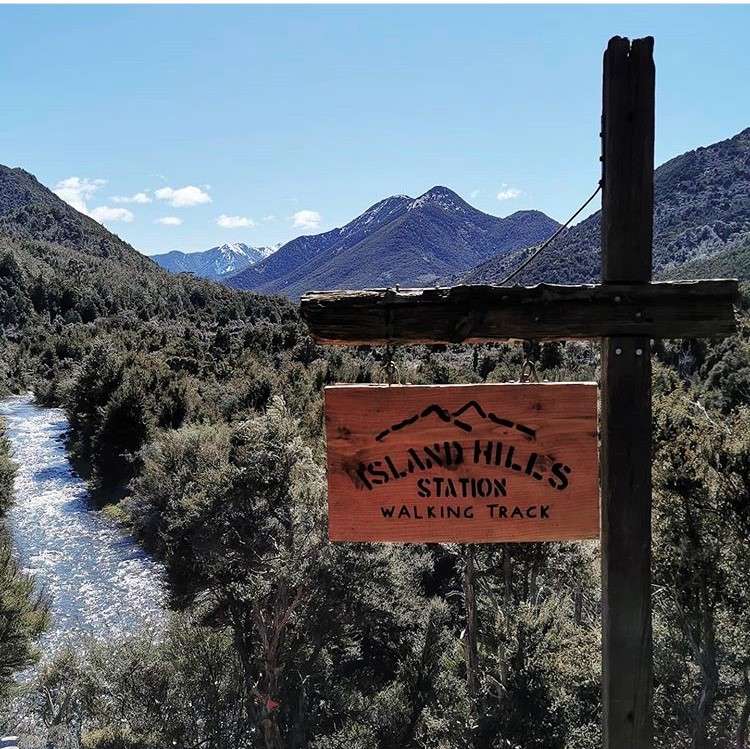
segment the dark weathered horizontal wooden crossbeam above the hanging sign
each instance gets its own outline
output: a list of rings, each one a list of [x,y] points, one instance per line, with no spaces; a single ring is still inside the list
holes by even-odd
[[[706,338],[736,329],[737,281],[316,291],[301,310],[316,341],[480,343],[641,336]]]

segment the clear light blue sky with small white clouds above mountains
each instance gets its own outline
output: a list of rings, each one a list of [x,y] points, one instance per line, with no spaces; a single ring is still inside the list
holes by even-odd
[[[0,162],[136,248],[262,245],[435,184],[567,218],[601,54],[656,37],[657,163],[750,126],[750,7],[2,6]]]

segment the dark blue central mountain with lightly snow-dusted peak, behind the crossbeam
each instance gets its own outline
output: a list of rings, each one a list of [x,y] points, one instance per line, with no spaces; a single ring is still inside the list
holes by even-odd
[[[418,198],[385,198],[341,228],[297,237],[226,282],[291,298],[312,289],[431,286],[536,244],[557,227],[539,211],[491,216],[436,186]]]

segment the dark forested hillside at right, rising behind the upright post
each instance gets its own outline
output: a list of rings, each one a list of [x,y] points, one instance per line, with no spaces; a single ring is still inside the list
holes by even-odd
[[[733,138],[689,151],[654,174],[654,272],[672,278],[699,278],[709,269],[748,276],[736,257],[750,238],[750,128]],[[514,279],[517,283],[595,282],[601,276],[600,213],[556,240],[544,259]],[[497,283],[529,250],[490,258],[463,276],[465,283]],[[724,262],[729,253],[732,260]],[[735,265],[733,260],[737,259]],[[705,276],[704,276],[705,277]]]

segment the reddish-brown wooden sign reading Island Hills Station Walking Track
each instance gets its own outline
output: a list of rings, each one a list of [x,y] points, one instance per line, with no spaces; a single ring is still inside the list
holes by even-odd
[[[599,535],[593,383],[325,389],[332,541]]]

